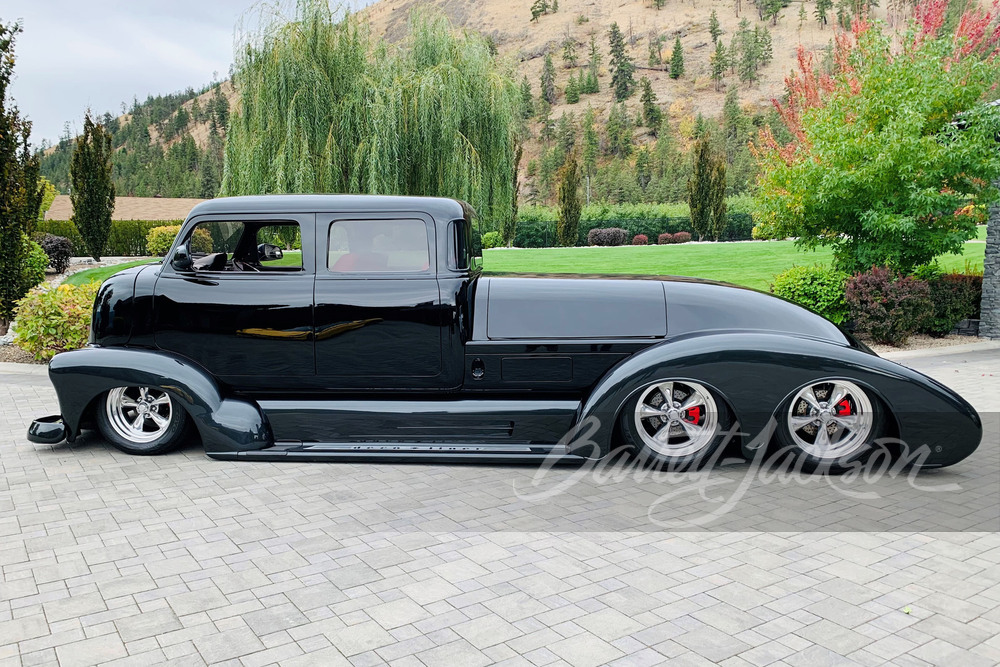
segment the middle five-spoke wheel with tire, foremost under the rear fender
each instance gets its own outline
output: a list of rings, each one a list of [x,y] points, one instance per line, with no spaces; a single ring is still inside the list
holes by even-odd
[[[653,462],[673,469],[697,467],[722,444],[728,412],[712,391],[689,380],[644,387],[622,412],[626,441]]]

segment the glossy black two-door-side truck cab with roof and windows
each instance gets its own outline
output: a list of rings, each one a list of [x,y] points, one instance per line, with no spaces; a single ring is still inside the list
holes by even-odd
[[[473,216],[420,197],[205,202],[157,271],[146,340],[247,391],[457,389]]]

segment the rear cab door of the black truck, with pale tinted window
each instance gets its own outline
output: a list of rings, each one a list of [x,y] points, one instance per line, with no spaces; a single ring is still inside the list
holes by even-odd
[[[319,215],[316,373],[331,388],[435,386],[448,311],[419,213]]]

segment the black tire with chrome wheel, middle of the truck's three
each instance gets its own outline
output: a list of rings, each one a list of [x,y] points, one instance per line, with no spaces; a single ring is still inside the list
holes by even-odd
[[[637,412],[640,401],[651,405],[661,399],[665,400],[662,387],[668,383],[673,385],[672,398],[680,399],[675,400],[675,402],[680,403],[685,400],[685,396],[690,398],[692,390],[694,392],[700,391],[701,397],[704,399],[703,405],[709,409],[705,411],[705,414],[699,413],[694,420],[690,419],[693,408],[685,410],[682,415],[679,415],[681,419],[678,420],[670,420],[668,416],[640,417]],[[659,396],[657,396],[657,392]],[[660,404],[662,405],[662,402]],[[714,412],[714,416],[709,415],[709,412]],[[695,426],[700,422],[709,428],[709,432],[699,436],[700,445],[698,443],[689,444],[693,438],[688,436],[687,429],[681,422]],[[729,439],[726,437],[726,433],[732,422],[732,413],[721,396],[700,383],[687,380],[661,380],[645,385],[625,402],[618,417],[618,426],[625,444],[631,447],[647,465],[671,471],[697,470],[719,458],[722,455],[721,448],[728,444]],[[643,433],[640,433],[640,428],[643,429]],[[664,433],[666,433],[667,442],[661,443],[658,448],[654,447],[652,441],[656,438],[653,436],[661,436]],[[685,437],[688,437],[689,442],[685,441]],[[693,446],[696,449],[687,451],[686,444],[689,444],[688,448]],[[676,453],[671,452],[672,449],[676,449]]]

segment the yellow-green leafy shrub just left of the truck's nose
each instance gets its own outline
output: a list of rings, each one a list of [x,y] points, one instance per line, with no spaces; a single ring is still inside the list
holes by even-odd
[[[87,344],[98,283],[32,290],[17,304],[14,344],[38,361]]]

